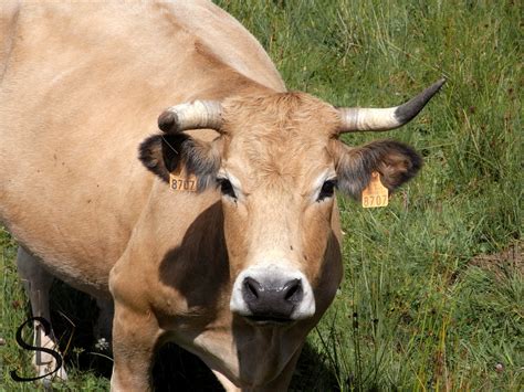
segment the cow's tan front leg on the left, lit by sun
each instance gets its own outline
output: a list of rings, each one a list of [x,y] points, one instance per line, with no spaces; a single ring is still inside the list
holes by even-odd
[[[115,304],[113,319],[114,392],[150,391],[150,369],[160,330],[150,312]]]

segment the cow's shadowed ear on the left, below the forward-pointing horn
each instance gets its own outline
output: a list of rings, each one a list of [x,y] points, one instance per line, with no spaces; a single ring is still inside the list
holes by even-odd
[[[170,172],[185,169],[197,177],[199,191],[216,183],[220,168],[220,156],[212,142],[196,140],[182,133],[148,137],[139,147],[138,158],[165,182],[169,182]]]

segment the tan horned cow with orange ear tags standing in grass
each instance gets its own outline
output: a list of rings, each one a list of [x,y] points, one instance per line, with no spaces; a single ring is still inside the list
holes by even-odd
[[[286,390],[342,279],[335,190],[358,200],[378,173],[394,191],[422,163],[339,136],[405,125],[443,81],[397,107],[335,107],[289,92],[208,1],[0,7],[0,220],[33,315],[49,319],[54,278],[95,297],[114,391],[148,390],[167,341],[228,391]]]

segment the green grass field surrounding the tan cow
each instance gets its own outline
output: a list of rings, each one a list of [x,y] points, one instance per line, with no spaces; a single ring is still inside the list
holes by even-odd
[[[292,390],[522,391],[522,4],[218,3],[261,41],[290,89],[334,105],[394,106],[448,78],[410,125],[345,137],[350,145],[406,141],[425,167],[387,208],[364,210],[339,198],[345,278],[310,335]],[[10,370],[29,374],[31,367],[30,352],[13,341],[29,306],[6,231],[0,248],[0,390],[30,391],[41,386],[9,379]],[[90,340],[93,303],[61,285],[53,298],[64,343],[73,328],[59,311],[75,325],[71,380],[53,388],[108,389],[111,360],[93,353]],[[196,359],[174,349],[160,358],[158,390],[211,389]]]

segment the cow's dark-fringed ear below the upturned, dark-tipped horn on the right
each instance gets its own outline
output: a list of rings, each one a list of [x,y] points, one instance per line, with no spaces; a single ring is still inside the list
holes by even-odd
[[[394,191],[422,167],[422,158],[411,147],[395,140],[377,140],[349,148],[336,140],[335,159],[338,189],[359,200],[371,173],[380,173],[382,184]]]

